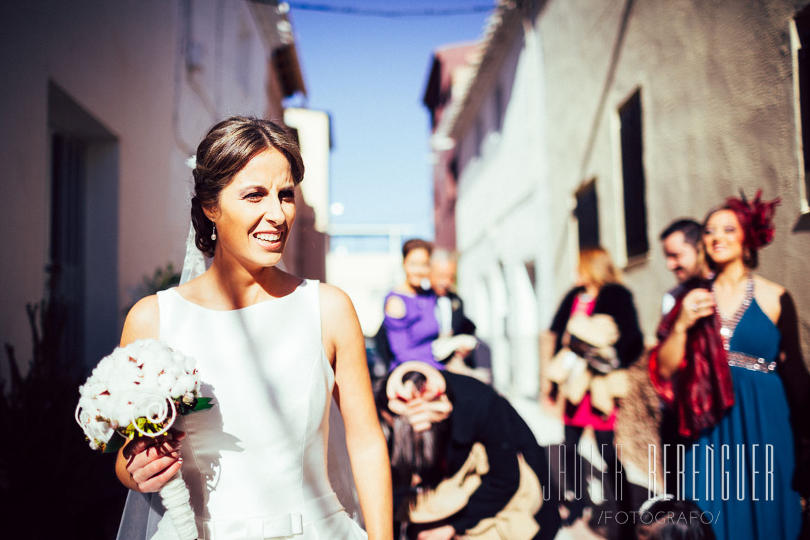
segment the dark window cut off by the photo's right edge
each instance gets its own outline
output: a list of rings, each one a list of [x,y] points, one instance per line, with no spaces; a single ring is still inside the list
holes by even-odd
[[[799,193],[801,193],[802,211],[810,211],[810,8],[805,8],[796,15],[795,20],[795,34],[793,35],[794,48],[795,48],[795,73],[798,75],[797,81],[797,94],[796,102],[799,121],[799,147],[801,147],[801,154],[804,158],[804,176],[801,179],[802,185],[799,186]]]

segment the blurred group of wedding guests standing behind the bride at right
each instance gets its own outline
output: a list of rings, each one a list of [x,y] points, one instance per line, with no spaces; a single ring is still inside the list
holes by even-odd
[[[701,223],[679,219],[661,232],[676,284],[662,291],[657,342],[648,347],[610,254],[599,246],[580,251],[574,286],[538,359],[540,401],[564,424],[558,453],[541,448],[484,384],[487,350],[453,292],[453,254],[405,242],[405,281],[386,297],[370,356],[387,368],[377,408],[403,538],[490,538],[486,531],[499,526],[501,536],[492,538],[554,538],[580,519],[606,538],[807,538],[810,375],[790,292],[754,273],[759,250],[774,237],[777,205],[761,193],[729,198]],[[633,367],[643,369],[642,379],[629,375]],[[649,418],[621,414],[626,399],[643,395],[638,386],[657,396]],[[628,482],[617,422],[650,425],[646,440],[635,442],[654,445],[664,464],[657,490],[642,494]],[[582,467],[586,429],[599,453],[590,470]],[[459,494],[450,485],[475,469],[480,450],[489,469]],[[552,496],[516,509],[527,497],[524,463],[532,483]],[[645,502],[649,492],[657,498]],[[650,508],[692,519],[599,519],[605,509]]]

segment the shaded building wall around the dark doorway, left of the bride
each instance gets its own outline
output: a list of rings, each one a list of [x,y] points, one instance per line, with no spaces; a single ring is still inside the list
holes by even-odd
[[[30,355],[24,307],[44,296],[49,260],[49,82],[115,138],[104,143],[109,152],[94,145],[88,164],[103,168],[106,181],[117,186],[117,201],[92,201],[117,206],[116,223],[108,221],[117,230],[115,260],[91,261],[116,267],[113,290],[104,291],[115,299],[113,314],[95,321],[105,336],[97,346],[111,347],[130,289],[167,261],[181,265],[191,186],[185,160],[205,130],[233,113],[281,117],[280,98],[275,105],[268,101],[278,85],[253,10],[249,2],[225,0],[3,7],[0,339],[17,348],[19,359]],[[87,294],[98,296],[90,289],[92,283]]]

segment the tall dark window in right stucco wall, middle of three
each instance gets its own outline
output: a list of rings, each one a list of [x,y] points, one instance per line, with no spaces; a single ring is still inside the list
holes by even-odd
[[[625,193],[627,257],[650,249],[647,240],[644,164],[642,163],[642,95],[636,91],[619,109],[621,170]]]

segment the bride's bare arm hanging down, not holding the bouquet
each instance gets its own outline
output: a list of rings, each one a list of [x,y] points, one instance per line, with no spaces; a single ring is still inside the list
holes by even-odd
[[[377,421],[365,343],[352,300],[321,285],[321,320],[326,356],[335,366],[335,401],[346,427],[360,509],[370,540],[392,540],[391,470],[386,440]]]

